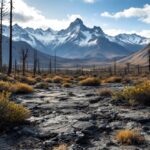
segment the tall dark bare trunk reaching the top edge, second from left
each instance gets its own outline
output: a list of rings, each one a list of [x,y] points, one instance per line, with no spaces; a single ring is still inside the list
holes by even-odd
[[[12,20],[13,20],[13,0],[10,0],[10,38],[9,38],[9,66],[8,75],[12,73]]]

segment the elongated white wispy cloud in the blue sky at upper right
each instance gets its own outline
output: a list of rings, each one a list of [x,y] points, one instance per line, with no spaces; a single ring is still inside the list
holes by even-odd
[[[150,5],[146,4],[143,8],[128,8],[116,13],[103,12],[101,16],[109,18],[131,18],[137,17],[140,21],[150,24]]]

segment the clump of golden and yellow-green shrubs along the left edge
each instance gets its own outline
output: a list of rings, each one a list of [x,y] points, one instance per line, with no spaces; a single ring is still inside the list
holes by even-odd
[[[11,79],[11,80],[10,80]],[[0,127],[11,127],[23,123],[30,117],[30,111],[13,101],[12,95],[30,94],[33,87],[27,83],[21,83],[19,80],[5,78],[0,81]]]

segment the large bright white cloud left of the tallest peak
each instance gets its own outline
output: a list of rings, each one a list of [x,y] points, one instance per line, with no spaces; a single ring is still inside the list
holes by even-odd
[[[42,12],[38,9],[29,6],[24,0],[14,1],[14,18],[13,22],[21,25],[22,27],[33,28],[53,28],[60,30],[67,28],[70,22],[76,18],[82,17],[79,14],[67,15],[65,19],[49,19],[42,15]],[[5,22],[7,24],[7,22]]]

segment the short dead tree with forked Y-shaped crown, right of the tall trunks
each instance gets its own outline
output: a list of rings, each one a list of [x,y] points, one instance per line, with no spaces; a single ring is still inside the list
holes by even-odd
[[[22,48],[21,50],[21,60],[22,60],[22,75],[25,75],[26,70],[26,60],[28,57],[29,49]]]

